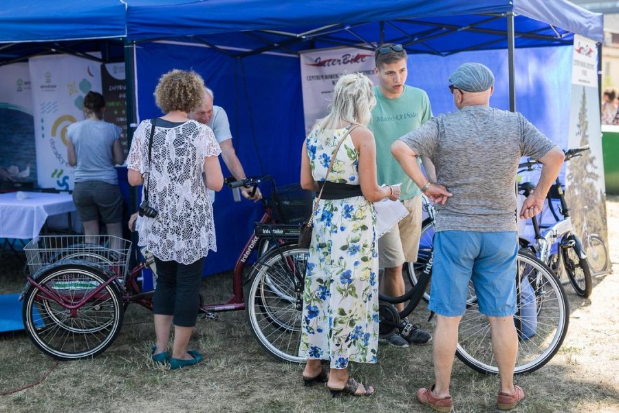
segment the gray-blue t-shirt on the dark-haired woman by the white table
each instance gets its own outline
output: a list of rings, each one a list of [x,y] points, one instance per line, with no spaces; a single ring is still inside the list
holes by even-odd
[[[122,129],[103,120],[81,120],[67,128],[67,136],[75,147],[77,165],[75,182],[98,180],[118,184],[112,145]]]

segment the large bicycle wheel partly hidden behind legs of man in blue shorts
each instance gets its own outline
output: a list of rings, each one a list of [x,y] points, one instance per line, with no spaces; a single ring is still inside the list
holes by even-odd
[[[515,374],[534,372],[561,347],[569,324],[569,308],[561,283],[543,262],[518,253],[518,310],[514,315],[519,337]],[[458,332],[458,359],[478,372],[497,374],[490,324],[479,313],[477,300],[467,305]]]

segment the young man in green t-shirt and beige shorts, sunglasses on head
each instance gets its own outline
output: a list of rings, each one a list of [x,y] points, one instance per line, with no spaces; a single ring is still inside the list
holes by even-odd
[[[422,226],[422,196],[419,187],[406,175],[400,164],[391,155],[391,144],[420,127],[432,117],[428,95],[422,89],[405,85],[407,75],[406,50],[402,45],[387,43],[374,53],[378,86],[374,87],[377,105],[372,110],[369,128],[376,140],[376,165],[378,184],[402,184],[400,201],[409,210],[409,215],[393,226],[391,231],[378,240],[378,260],[384,268],[382,290],[387,295],[404,294],[402,264],[417,261],[419,238]],[[434,166],[428,159],[422,159],[424,169],[434,179]],[[397,304],[399,311],[404,304]],[[407,319],[402,333],[391,336],[393,346],[408,347],[409,343],[425,344],[432,336],[409,323]]]

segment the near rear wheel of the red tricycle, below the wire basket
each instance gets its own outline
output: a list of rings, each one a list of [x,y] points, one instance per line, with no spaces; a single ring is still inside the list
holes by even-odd
[[[122,325],[120,293],[110,283],[88,297],[108,278],[86,264],[54,266],[37,277],[54,299],[32,285],[25,293],[23,324],[34,345],[59,360],[94,357],[108,348]]]

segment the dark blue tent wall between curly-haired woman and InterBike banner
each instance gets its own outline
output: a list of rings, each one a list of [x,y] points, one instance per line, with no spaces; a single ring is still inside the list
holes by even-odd
[[[136,73],[140,119],[161,116],[153,91],[162,74],[178,68],[195,70],[226,109],[232,142],[248,176],[268,173],[281,186],[298,182],[303,144],[303,99],[298,57],[260,54],[231,59],[208,47],[170,43],[138,46]],[[221,162],[224,176],[230,175]],[[261,187],[269,193],[268,186]],[[234,202],[228,187],[215,196],[217,253],[211,252],[206,273],[228,270],[261,218],[257,204]]]

